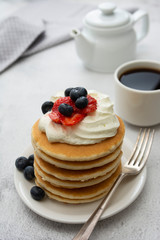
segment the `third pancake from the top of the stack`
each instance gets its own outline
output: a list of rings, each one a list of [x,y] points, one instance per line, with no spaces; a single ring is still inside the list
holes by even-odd
[[[50,163],[45,162],[41,158],[39,158],[36,154],[34,154],[34,158],[36,163],[40,166],[40,168],[56,178],[61,180],[71,180],[71,181],[87,181],[92,178],[96,178],[99,176],[103,176],[106,173],[110,172],[113,168],[115,168],[120,160],[121,160],[122,152],[118,155],[118,157],[101,167],[85,169],[85,170],[68,170],[63,168],[58,168]]]

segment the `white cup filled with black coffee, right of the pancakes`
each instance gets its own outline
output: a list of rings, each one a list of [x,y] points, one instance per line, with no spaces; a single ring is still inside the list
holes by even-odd
[[[114,80],[115,111],[123,120],[136,126],[160,123],[160,62],[127,62],[116,69]]]

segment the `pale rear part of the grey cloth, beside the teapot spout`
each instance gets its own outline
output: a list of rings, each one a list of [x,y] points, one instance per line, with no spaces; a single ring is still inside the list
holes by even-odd
[[[66,42],[71,38],[70,32],[73,28],[82,27],[82,19],[93,8],[97,6],[85,3],[77,3],[71,0],[38,0],[33,1],[15,14],[30,23],[37,25],[43,22],[45,35],[35,42],[23,56],[45,50]]]

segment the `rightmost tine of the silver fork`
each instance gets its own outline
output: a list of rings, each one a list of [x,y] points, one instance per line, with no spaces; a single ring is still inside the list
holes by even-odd
[[[149,139],[149,134],[148,134],[148,139],[147,139],[147,143],[146,143],[146,147],[145,147],[145,150],[146,152],[144,151],[143,155],[142,155],[142,158],[141,160],[139,161],[139,164],[138,166],[142,169],[144,167],[144,165],[146,164],[146,161],[148,159],[148,156],[149,156],[149,153],[150,153],[150,150],[151,150],[151,146],[152,146],[152,142],[153,142],[153,137],[154,137],[154,129],[152,130],[152,133],[151,133],[151,136],[150,136],[150,139]]]

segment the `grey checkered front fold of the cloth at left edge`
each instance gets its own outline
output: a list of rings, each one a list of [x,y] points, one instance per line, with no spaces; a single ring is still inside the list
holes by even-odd
[[[31,25],[18,17],[0,23],[0,72],[15,62],[44,33],[44,27]]]

